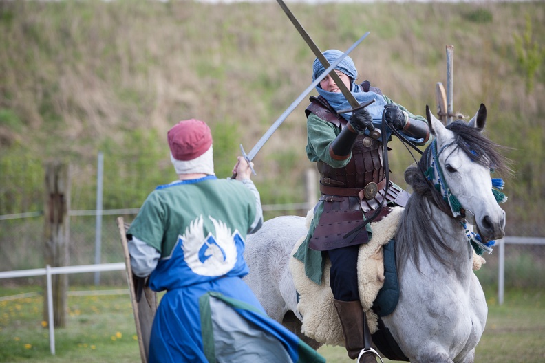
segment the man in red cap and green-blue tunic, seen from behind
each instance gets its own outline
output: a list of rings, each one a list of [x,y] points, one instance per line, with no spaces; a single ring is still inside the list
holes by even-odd
[[[217,179],[211,131],[200,120],[175,124],[167,139],[178,180],[151,192],[127,230],[134,274],[167,290],[149,362],[325,362],[266,316],[242,281],[246,234],[263,222],[246,159],[238,157],[236,180]]]

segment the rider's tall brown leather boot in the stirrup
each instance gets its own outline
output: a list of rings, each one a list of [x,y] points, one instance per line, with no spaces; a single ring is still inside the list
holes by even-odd
[[[348,356],[352,359],[358,358],[359,353],[365,348],[363,336],[363,324],[365,315],[359,301],[333,300],[335,309],[341,319],[345,346]],[[358,363],[376,363],[375,355],[371,352],[361,356]]]

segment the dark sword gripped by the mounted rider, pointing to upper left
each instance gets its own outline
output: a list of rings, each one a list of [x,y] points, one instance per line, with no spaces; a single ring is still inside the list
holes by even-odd
[[[350,103],[350,106],[352,107],[352,109],[343,110],[341,113],[356,111],[356,109],[363,108],[363,106],[359,104],[358,100],[356,100],[356,98],[350,92],[350,90],[345,86],[345,84],[343,83],[339,75],[336,74],[334,70],[332,70],[331,72],[328,71],[329,65],[330,65],[328,60],[325,59],[325,56],[323,56],[322,52],[319,50],[317,45],[314,43],[314,41],[312,41],[312,39],[310,38],[306,30],[301,25],[301,23],[297,21],[297,19],[295,18],[295,15],[292,14],[292,12],[290,11],[286,3],[284,3],[283,0],[277,0],[277,2],[282,8],[282,10],[284,10],[286,15],[288,15],[288,18],[290,18],[290,21],[293,23],[293,25],[295,25],[295,28],[299,31],[299,34],[301,34],[303,39],[306,41],[307,45],[310,47],[310,50],[312,50],[312,53],[314,53],[314,55],[319,59],[323,67],[326,68],[326,70],[323,73],[325,74],[329,73],[331,78],[333,78],[333,80],[335,81],[337,87],[339,87],[339,90],[341,91],[343,96],[345,96],[346,100],[348,100],[348,103]],[[381,137],[381,131],[378,129],[375,129],[375,127],[372,124],[370,124],[368,129],[369,129],[369,135],[372,138],[378,139]]]

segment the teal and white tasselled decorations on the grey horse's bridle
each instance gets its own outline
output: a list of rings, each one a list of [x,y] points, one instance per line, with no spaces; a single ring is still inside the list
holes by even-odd
[[[447,185],[447,181],[445,180],[445,175],[443,175],[442,168],[439,164],[439,155],[442,153],[442,151],[445,150],[445,148],[451,146],[452,144],[454,144],[454,142],[446,144],[441,148],[439,152],[437,152],[436,140],[433,140],[431,142],[431,160],[429,160],[428,162],[429,167],[425,171],[424,175],[429,181],[431,181],[432,184],[434,184],[434,188],[436,188],[436,190],[440,192],[445,203],[448,203],[449,207],[451,208],[453,217],[458,218],[462,216],[462,205],[460,204],[458,198],[456,198],[456,196],[452,194],[449,186]],[[491,170],[491,173],[493,172],[494,170]],[[503,192],[500,192],[500,190],[504,188],[504,185],[505,184],[503,179],[492,178],[492,192],[498,204],[505,203],[507,201],[506,195]],[[460,223],[462,224],[462,227],[466,232],[467,239],[469,243],[471,243],[471,247],[473,247],[473,250],[475,250],[476,254],[480,256],[485,251],[488,253],[492,253],[492,246],[495,245],[495,241],[492,240],[483,242],[481,236],[478,233],[475,233],[467,228],[466,221],[460,221]]]

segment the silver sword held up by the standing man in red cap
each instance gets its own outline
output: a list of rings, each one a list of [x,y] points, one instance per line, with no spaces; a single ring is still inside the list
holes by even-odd
[[[320,83],[320,81],[323,80],[323,78],[325,78],[325,76],[328,75],[329,72],[332,72],[334,67],[336,67],[339,63],[341,63],[341,61],[343,61],[345,56],[348,56],[348,54],[350,54],[350,52],[352,52],[352,50],[354,50],[354,48],[357,47],[359,45],[359,43],[361,43],[363,41],[363,39],[367,38],[368,35],[369,35],[369,32],[366,32],[365,34],[363,34],[363,36],[361,36],[360,39],[358,39],[354,44],[352,44],[350,46],[350,48],[348,48],[348,50],[346,50],[346,52],[343,53],[343,55],[341,55],[339,58],[337,58],[331,65],[328,65],[327,69],[325,69],[325,72],[323,72],[318,78],[316,78],[316,80],[314,80],[314,82],[312,82],[303,91],[303,93],[301,93],[299,95],[299,97],[297,97],[295,99],[295,101],[293,101],[292,104],[290,104],[290,107],[288,107],[286,109],[286,111],[284,111],[284,113],[282,113],[280,115],[280,117],[275,121],[273,126],[270,126],[270,128],[266,131],[266,133],[263,136],[261,136],[261,139],[259,139],[257,144],[255,144],[255,146],[252,148],[252,150],[250,150],[250,152],[248,154],[246,154],[244,152],[244,148],[242,147],[242,144],[240,144],[240,151],[242,151],[242,156],[244,157],[244,159],[246,159],[246,162],[248,162],[248,165],[250,165],[250,162],[253,160],[255,155],[257,155],[259,150],[261,150],[261,148],[267,142],[267,140],[270,139],[270,136],[273,135],[273,133],[275,133],[275,131],[278,129],[278,127],[282,124],[282,122],[284,122],[284,120],[286,120],[286,118],[288,118],[288,115],[290,115],[290,113],[292,113],[292,111],[295,109],[295,107],[297,107],[297,105],[299,103],[301,103],[303,98],[305,98],[306,95],[308,95],[310,93],[310,91],[312,91],[312,89],[314,89],[314,87],[316,87]],[[335,73],[335,72],[333,71],[333,73]],[[336,73],[335,73],[335,75],[336,75]],[[352,94],[350,94],[350,96],[352,96]],[[354,96],[352,96],[352,97],[354,97]],[[358,101],[356,101],[356,103],[358,103]],[[359,104],[358,104],[358,106],[359,106]],[[251,168],[251,166],[250,166],[250,168]],[[256,175],[255,170],[253,170],[253,168],[251,168],[251,169],[252,169],[252,173],[254,175]],[[237,174],[233,173],[233,175],[231,175],[231,179],[235,179],[235,177],[237,177]]]

